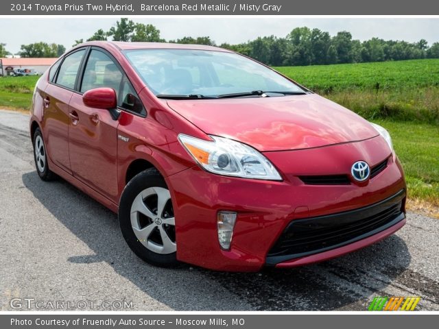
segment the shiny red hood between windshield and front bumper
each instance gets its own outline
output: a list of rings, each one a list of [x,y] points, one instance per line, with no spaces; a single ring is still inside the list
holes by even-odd
[[[167,104],[206,134],[232,138],[259,151],[322,147],[378,135],[359,115],[315,94]]]

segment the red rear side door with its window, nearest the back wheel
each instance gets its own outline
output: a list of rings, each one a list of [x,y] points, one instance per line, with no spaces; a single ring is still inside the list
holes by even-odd
[[[86,49],[70,53],[62,60],[58,71],[51,76],[51,81],[45,88],[43,135],[47,154],[51,160],[64,171],[71,173],[69,159],[69,125],[72,118],[69,103],[74,93],[82,60]],[[52,70],[54,67],[52,68]],[[53,80],[53,81],[52,81]]]

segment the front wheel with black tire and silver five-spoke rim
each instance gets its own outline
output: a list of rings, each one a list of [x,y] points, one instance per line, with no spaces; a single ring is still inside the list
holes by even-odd
[[[119,225],[134,254],[152,265],[178,264],[171,195],[155,168],[134,176],[119,203]]]

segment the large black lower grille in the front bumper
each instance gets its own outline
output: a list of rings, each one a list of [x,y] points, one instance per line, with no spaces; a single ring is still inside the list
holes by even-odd
[[[267,256],[275,265],[348,245],[381,232],[405,218],[405,190],[377,204],[333,215],[296,219],[289,223]]]

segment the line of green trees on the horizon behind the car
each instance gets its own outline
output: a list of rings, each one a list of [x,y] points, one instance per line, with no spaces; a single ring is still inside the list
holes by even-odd
[[[114,40],[131,42],[174,42],[216,46],[209,36],[193,38],[185,36],[176,40],[161,38],[160,30],[154,25],[134,23],[129,19],[117,21],[108,31],[98,29],[86,41]],[[84,39],[75,40],[75,45]],[[272,66],[305,66],[320,64],[342,64],[359,62],[383,62],[387,60],[412,60],[421,58],[439,58],[439,42],[431,46],[425,39],[418,42],[401,40],[383,40],[371,38],[360,41],[352,38],[350,32],[338,32],[331,36],[329,32],[309,27],[296,27],[285,38],[263,36],[237,45],[222,43],[219,47],[237,51],[260,62]],[[2,50],[3,49],[3,50]],[[0,55],[5,51],[0,44]],[[22,45],[22,57],[58,57],[65,51],[62,45],[37,42]]]

